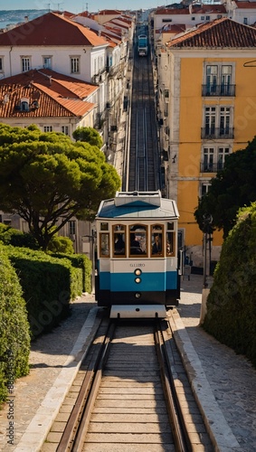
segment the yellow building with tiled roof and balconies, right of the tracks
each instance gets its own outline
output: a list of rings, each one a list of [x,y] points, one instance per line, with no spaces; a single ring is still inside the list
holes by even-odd
[[[175,199],[187,254],[203,265],[198,197],[227,155],[256,135],[256,29],[228,18],[197,26],[157,52],[166,196]],[[222,231],[213,233],[218,259]]]

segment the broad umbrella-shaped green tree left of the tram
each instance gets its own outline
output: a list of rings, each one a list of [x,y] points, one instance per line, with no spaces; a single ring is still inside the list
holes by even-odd
[[[43,250],[72,216],[92,220],[119,174],[97,146],[37,127],[0,125],[0,209],[18,213]]]

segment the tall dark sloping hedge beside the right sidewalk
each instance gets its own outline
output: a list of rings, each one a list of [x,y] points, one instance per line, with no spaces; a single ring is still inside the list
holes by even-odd
[[[256,202],[239,212],[223,242],[204,329],[256,367]]]

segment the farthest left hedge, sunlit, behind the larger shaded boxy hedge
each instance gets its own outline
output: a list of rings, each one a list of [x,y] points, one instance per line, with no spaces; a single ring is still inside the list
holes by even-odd
[[[91,260],[85,254],[64,254],[51,253],[51,256],[58,259],[69,259],[75,268],[82,270],[82,291],[91,292]]]

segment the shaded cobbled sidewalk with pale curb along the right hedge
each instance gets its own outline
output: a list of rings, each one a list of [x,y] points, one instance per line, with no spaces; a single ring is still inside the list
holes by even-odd
[[[202,288],[201,276],[182,281],[176,321],[181,353],[219,450],[252,452],[256,450],[256,370],[199,326]]]

